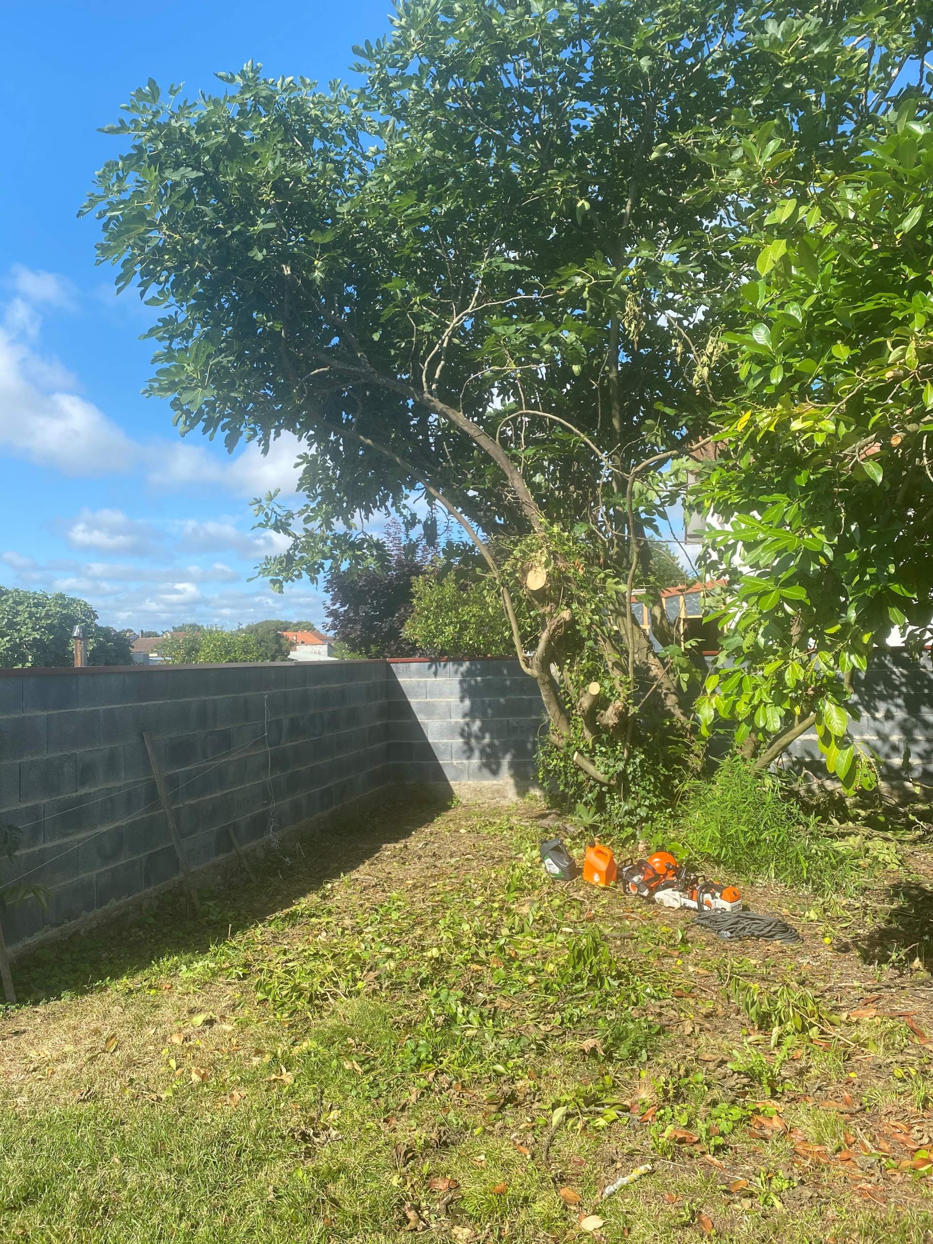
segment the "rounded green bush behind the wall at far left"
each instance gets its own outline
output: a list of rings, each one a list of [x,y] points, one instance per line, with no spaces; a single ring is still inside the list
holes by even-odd
[[[97,623],[87,603],[62,592],[0,587],[0,668],[73,666],[71,633],[83,626],[92,666],[132,663],[128,638]]]

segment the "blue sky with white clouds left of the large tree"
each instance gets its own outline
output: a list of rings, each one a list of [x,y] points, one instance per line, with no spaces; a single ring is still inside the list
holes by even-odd
[[[274,596],[249,578],[274,537],[249,500],[294,488],[296,444],[230,458],[182,440],[143,398],[151,312],[95,265],[77,219],[118,138],[97,132],[149,76],[223,90],[254,58],[270,76],[346,77],[351,45],[388,27],[389,0],[0,0],[5,178],[0,190],[0,585],[82,596],[101,621],[162,629],[261,617],[321,621],[310,583]]]

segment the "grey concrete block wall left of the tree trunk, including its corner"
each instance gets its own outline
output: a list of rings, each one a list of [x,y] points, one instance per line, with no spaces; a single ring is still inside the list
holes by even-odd
[[[4,913],[42,939],[178,878],[143,731],[189,867],[404,781],[526,784],[541,702],[516,662],[282,662],[0,671],[0,821],[21,830]]]

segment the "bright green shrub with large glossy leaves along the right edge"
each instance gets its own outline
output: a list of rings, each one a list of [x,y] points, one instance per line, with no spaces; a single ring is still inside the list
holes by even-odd
[[[758,272],[726,333],[741,391],[698,489],[724,525],[710,571],[729,578],[723,669],[698,710],[739,738],[815,714],[848,791],[876,779],[847,733],[852,677],[892,627],[914,652],[933,633],[931,81],[806,175],[804,136],[748,118],[725,174],[749,198]],[[764,159],[780,163],[763,184]]]

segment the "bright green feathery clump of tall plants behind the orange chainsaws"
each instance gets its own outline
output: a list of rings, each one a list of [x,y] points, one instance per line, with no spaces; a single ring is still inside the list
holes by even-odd
[[[712,780],[693,784],[671,822],[689,858],[723,868],[729,877],[763,877],[811,889],[851,883],[850,857],[804,816],[771,774],[756,774],[729,756]]]

